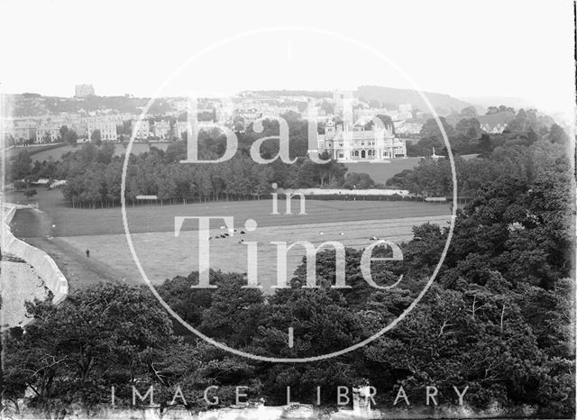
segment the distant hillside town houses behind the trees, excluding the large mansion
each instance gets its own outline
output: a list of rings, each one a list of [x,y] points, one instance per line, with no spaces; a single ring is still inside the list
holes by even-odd
[[[82,101],[94,96],[91,85],[77,86],[73,100]],[[340,96],[348,95],[350,101],[339,105]],[[80,109],[78,112],[60,112],[36,116],[14,116],[5,121],[5,136],[8,143],[32,144],[63,141],[62,127],[76,132],[78,142],[89,142],[95,132],[103,142],[122,142],[134,133],[137,141],[170,142],[182,140],[187,132],[186,112],[188,100],[173,98],[171,109],[162,114],[121,113],[118,109],[102,108],[96,111]],[[415,112],[410,104],[398,105],[398,109],[374,107],[357,98],[352,92],[334,91],[333,96],[314,98],[310,96],[270,96],[243,92],[226,99],[203,98],[198,101],[199,122],[218,124],[245,130],[257,119],[267,116],[296,113],[307,117],[315,115],[318,123],[334,122],[345,116],[354,117],[355,124],[364,124],[372,117],[388,115],[399,134],[417,134],[422,126],[418,123],[421,112]],[[139,120],[142,117],[142,122]],[[350,119],[349,119],[349,122]]]

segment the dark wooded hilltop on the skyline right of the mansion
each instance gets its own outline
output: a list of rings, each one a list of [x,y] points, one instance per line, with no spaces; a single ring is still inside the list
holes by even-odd
[[[452,111],[460,112],[464,107],[470,106],[468,102],[453,96],[423,92],[438,114],[451,114]],[[395,87],[362,86],[355,94],[363,101],[378,101],[385,106],[397,106],[399,104],[411,104],[414,108],[430,113],[423,98],[413,89],[398,89]]]

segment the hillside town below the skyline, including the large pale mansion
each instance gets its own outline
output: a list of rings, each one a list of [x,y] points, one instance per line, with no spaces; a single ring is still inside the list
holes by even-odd
[[[307,95],[308,94],[308,95]],[[25,94],[23,95],[25,97]],[[128,100],[129,97],[125,97]],[[14,102],[30,102],[31,98],[14,96]],[[32,97],[32,102],[48,101]],[[50,99],[51,100],[51,99]],[[87,106],[85,102],[101,100],[92,85],[77,85],[72,98],[75,112],[59,111],[19,115],[6,118],[6,145],[49,144],[55,142],[176,142],[186,140],[188,132],[188,98],[163,98],[166,106],[154,109],[154,101],[144,101],[138,112],[123,112],[121,107]],[[122,100],[122,99],[121,99]],[[88,105],[88,104],[86,104]],[[62,108],[66,106],[61,106]],[[96,109],[95,109],[96,108]],[[411,104],[384,106],[374,100],[363,100],[350,90],[333,92],[241,92],[226,98],[198,98],[195,104],[197,124],[202,127],[222,126],[236,132],[246,131],[261,119],[298,118],[317,125],[317,150],[327,151],[338,161],[379,161],[408,156],[407,142],[418,140],[427,118],[426,113]],[[499,112],[499,109],[498,109]],[[26,114],[26,112],[21,112]],[[33,113],[28,113],[33,114]],[[509,118],[480,123],[480,132],[498,134],[507,128]],[[375,117],[379,116],[379,120]],[[482,118],[485,115],[481,115]],[[386,123],[374,126],[384,117]],[[448,119],[451,115],[447,116]]]

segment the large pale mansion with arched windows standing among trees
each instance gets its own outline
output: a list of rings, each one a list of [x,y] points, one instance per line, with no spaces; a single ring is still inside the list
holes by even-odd
[[[405,158],[407,145],[398,139],[392,126],[365,130],[361,126],[349,126],[327,122],[325,134],[317,137],[318,151],[328,151],[337,161],[346,160],[388,160]]]

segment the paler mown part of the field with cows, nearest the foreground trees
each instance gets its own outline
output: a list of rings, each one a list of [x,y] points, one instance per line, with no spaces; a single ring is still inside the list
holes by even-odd
[[[290,244],[309,241],[319,246],[325,241],[337,241],[347,247],[364,248],[371,244],[370,238],[373,235],[402,242],[412,237],[412,227],[416,224],[431,222],[445,225],[448,220],[448,215],[441,215],[390,221],[362,220],[345,224],[333,222],[260,227],[252,233],[236,233],[234,237],[213,239],[208,242],[209,250],[202,247],[200,256],[197,232],[181,233],[179,237],[169,232],[136,233],[131,237],[142,268],[151,282],[156,284],[166,278],[187,275],[197,270],[199,259],[209,259],[214,269],[246,272],[247,246],[240,243],[240,240],[258,242],[258,278],[268,288],[275,284],[277,270],[277,248],[271,242]],[[219,229],[212,231],[213,236],[216,233],[219,233]],[[103,261],[117,269],[125,281],[140,281],[140,273],[133,262],[124,234],[69,236],[62,240],[77,250],[89,249],[90,259]],[[302,247],[289,251],[287,278],[292,277],[304,255]]]

